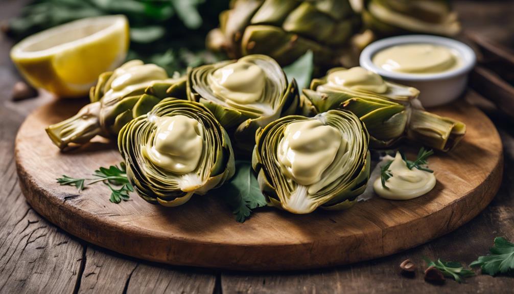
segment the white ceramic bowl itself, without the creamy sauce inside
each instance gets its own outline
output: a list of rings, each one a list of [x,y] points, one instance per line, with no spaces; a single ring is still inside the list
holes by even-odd
[[[375,53],[400,44],[434,44],[454,49],[462,58],[462,66],[453,70],[416,75],[392,72],[373,63]],[[368,45],[360,54],[360,66],[374,71],[384,79],[415,87],[420,91],[419,100],[423,106],[431,107],[449,103],[462,94],[468,81],[468,73],[476,62],[473,50],[466,44],[433,35],[403,35],[382,39]]]

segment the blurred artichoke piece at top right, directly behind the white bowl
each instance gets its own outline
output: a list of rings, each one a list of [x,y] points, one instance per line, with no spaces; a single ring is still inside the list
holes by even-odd
[[[455,35],[461,30],[448,0],[366,0],[362,17],[375,34]]]

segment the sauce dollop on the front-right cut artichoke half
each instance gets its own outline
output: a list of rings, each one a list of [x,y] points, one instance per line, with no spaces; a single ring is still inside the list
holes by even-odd
[[[286,127],[279,142],[280,168],[300,185],[317,183],[342,143],[341,133],[333,126],[316,119],[293,122]]]

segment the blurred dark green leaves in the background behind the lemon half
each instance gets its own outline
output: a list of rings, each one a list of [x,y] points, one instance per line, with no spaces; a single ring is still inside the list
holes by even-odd
[[[172,75],[225,58],[205,49],[205,36],[228,7],[229,0],[36,0],[3,30],[19,41],[84,17],[124,14],[131,27],[127,60],[155,63]]]

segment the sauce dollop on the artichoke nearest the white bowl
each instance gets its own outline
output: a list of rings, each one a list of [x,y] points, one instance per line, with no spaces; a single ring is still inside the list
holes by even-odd
[[[377,94],[386,93],[388,86],[377,73],[360,66],[350,69],[336,70],[328,74],[325,88],[339,90],[350,88],[353,90],[370,91]]]

